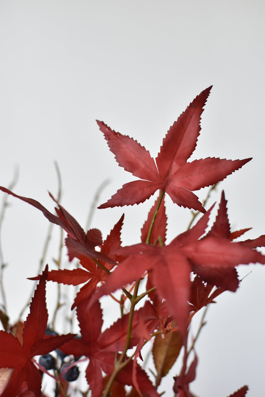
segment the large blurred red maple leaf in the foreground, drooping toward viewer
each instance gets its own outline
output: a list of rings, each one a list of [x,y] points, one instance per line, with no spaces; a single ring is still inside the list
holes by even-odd
[[[174,243],[166,247],[140,243],[120,248],[114,253],[128,256],[93,295],[91,304],[95,299],[140,279],[145,271],[151,270],[153,285],[157,287],[160,298],[166,299],[166,304],[182,333],[185,333],[189,314],[187,302],[193,263],[224,269],[250,262],[265,263],[265,256],[260,252],[242,243],[233,243],[228,239],[217,237],[193,241],[180,247],[176,247]]]

